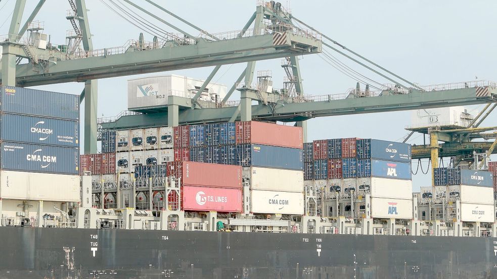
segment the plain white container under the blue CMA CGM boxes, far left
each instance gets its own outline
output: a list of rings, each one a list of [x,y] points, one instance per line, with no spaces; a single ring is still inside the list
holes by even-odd
[[[76,175],[0,171],[0,198],[79,202]]]

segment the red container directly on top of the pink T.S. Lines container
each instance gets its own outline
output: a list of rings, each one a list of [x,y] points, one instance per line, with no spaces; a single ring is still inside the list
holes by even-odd
[[[242,167],[230,164],[183,162],[182,185],[242,188]]]

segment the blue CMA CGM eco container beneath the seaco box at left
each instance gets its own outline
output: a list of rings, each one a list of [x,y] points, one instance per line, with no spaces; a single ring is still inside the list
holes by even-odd
[[[0,140],[79,147],[79,122],[0,114]]]

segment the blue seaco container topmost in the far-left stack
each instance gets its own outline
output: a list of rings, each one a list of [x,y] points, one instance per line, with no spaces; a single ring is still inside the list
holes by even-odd
[[[20,115],[78,120],[79,95],[2,86],[0,111]]]

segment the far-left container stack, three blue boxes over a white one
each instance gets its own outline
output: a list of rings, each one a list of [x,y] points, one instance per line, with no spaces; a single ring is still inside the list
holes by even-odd
[[[79,201],[79,96],[2,86],[0,199]]]

